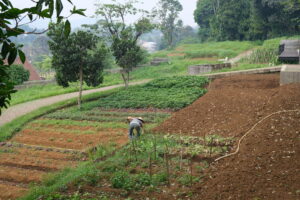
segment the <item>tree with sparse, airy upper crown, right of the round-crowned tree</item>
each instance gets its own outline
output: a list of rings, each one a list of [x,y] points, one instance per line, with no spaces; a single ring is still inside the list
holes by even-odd
[[[122,68],[121,75],[126,88],[129,84],[129,73],[144,60],[143,51],[137,41],[144,33],[148,33],[154,28],[148,12],[135,8],[134,3],[128,1],[124,4],[97,5],[96,14],[102,20],[93,27],[94,30],[102,29],[104,31],[102,35],[109,37],[113,56],[116,63]],[[142,17],[132,25],[126,24],[128,15],[137,14],[142,14]]]

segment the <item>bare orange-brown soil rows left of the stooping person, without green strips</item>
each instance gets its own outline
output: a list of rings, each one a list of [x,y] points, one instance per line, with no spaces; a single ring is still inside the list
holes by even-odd
[[[24,195],[29,185],[38,184],[49,172],[75,167],[80,152],[99,144],[124,145],[126,129],[99,129],[93,134],[70,125],[59,129],[38,120],[20,131],[7,143],[0,144],[0,200],[16,199]],[[75,131],[75,132],[74,132]]]

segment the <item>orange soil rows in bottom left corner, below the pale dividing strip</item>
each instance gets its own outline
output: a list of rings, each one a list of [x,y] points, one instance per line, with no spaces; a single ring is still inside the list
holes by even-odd
[[[15,199],[24,195],[30,185],[40,183],[48,172],[75,167],[77,160],[70,153],[52,149],[1,143],[0,199]]]

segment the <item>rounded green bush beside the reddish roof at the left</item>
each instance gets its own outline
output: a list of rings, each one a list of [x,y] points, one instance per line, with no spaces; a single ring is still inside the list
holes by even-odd
[[[24,69],[22,65],[11,65],[7,73],[15,85],[20,85],[24,81],[29,80],[30,73],[27,69]]]

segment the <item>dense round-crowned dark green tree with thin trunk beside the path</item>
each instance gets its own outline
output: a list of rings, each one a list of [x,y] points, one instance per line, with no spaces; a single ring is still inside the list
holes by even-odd
[[[81,108],[82,86],[98,86],[103,82],[103,68],[107,64],[108,50],[100,38],[86,31],[63,34],[63,26],[50,25],[49,47],[57,83],[68,87],[79,81],[78,108]]]

